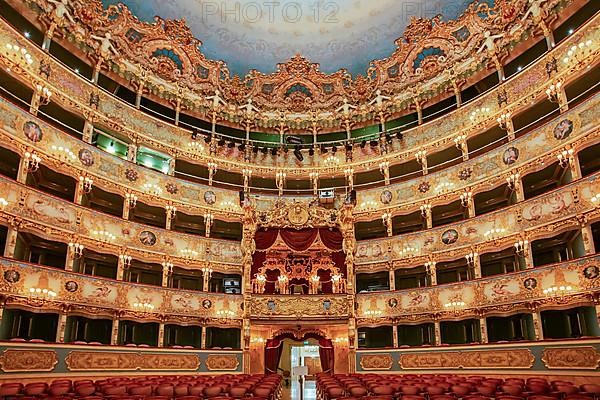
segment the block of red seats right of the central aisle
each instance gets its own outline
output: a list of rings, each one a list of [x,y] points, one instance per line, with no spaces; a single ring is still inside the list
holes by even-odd
[[[319,400],[600,400],[600,385],[544,378],[350,374],[317,376]]]

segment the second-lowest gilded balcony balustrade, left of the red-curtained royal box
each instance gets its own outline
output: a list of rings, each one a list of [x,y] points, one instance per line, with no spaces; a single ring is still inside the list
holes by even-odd
[[[0,193],[8,204],[0,218],[19,230],[69,243],[75,240],[98,252],[128,255],[147,262],[163,262],[215,271],[241,273],[240,243],[150,227],[116,218],[0,178]],[[105,234],[107,233],[107,234]],[[194,257],[189,252],[194,251]]]

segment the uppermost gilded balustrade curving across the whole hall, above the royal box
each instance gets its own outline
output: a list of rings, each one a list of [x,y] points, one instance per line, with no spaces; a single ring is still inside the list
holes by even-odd
[[[223,153],[215,157],[209,156],[206,152],[197,153],[188,151],[187,148],[191,137],[190,131],[145,115],[139,110],[99,90],[90,82],[85,81],[80,76],[77,76],[77,74],[66,69],[40,49],[28,45],[20,34],[15,32],[4,21],[1,23],[4,29],[0,32],[0,41],[2,43],[20,43],[33,56],[33,63],[31,65],[24,69],[15,70],[17,72],[16,78],[30,86],[35,86],[38,82],[43,81],[52,90],[53,101],[57,101],[66,108],[87,116],[95,124],[104,125],[115,132],[129,137],[138,144],[148,145],[173,156],[192,162],[206,163],[216,161],[220,168],[240,173],[242,169],[248,167],[248,164],[243,162],[243,155],[236,148],[222,149]],[[311,165],[309,167],[302,167],[296,164],[295,158],[291,155],[287,156],[285,161],[282,157],[275,159],[270,155],[259,155],[252,164],[254,174],[257,176],[274,176],[276,172],[285,170],[288,176],[295,178],[308,177],[311,172],[342,175],[343,171],[348,167],[352,167],[356,172],[360,172],[376,169],[381,162],[386,160],[391,163],[410,160],[417,148],[430,150],[429,152],[431,153],[434,149],[439,150],[440,147],[454,145],[456,132],[472,136],[475,132],[483,131],[495,125],[496,118],[506,112],[506,110],[510,110],[515,115],[519,110],[529,106],[532,100],[543,98],[546,86],[539,85],[538,83],[549,79],[547,63],[552,59],[562,60],[573,44],[579,43],[582,40],[592,40],[594,50],[587,58],[589,62],[578,62],[575,64],[559,62],[557,64],[558,70],[553,73],[552,80],[561,80],[564,85],[585,71],[587,66],[597,59],[598,43],[600,43],[599,25],[600,16],[596,16],[582,27],[578,33],[567,38],[563,43],[559,44],[543,58],[523,70],[514,78],[507,80],[500,88],[489,91],[476,101],[464,105],[458,110],[444,116],[444,118],[405,131],[403,144],[395,144],[395,147],[386,156],[373,154],[370,149],[355,149],[354,162],[352,163],[346,163],[344,159],[340,159],[339,163],[332,166]],[[41,60],[44,61],[44,64],[51,71],[47,78],[42,78],[39,72]],[[13,67],[15,69],[15,65],[7,59],[5,54],[0,55],[0,62],[5,67]],[[507,98],[504,106],[498,104],[500,91]],[[97,109],[90,105],[90,99],[93,95],[98,96]],[[482,108],[489,109],[489,116],[485,120],[487,122],[471,124],[469,122],[471,113],[476,109]],[[465,127],[465,124],[467,127]],[[144,132],[152,132],[152,135],[144,134]],[[440,132],[451,132],[451,134],[440,138]]]

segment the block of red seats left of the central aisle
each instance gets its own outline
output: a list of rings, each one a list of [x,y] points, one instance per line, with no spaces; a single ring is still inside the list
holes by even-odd
[[[108,379],[71,379],[47,382],[3,383],[2,399],[46,400],[278,400],[279,375],[144,376]]]

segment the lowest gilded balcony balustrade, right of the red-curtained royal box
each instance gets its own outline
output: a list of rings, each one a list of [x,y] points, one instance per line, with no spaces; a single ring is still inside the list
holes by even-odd
[[[544,293],[549,287],[560,293]],[[567,290],[570,289],[570,290]],[[456,284],[356,295],[357,323],[389,325],[510,315],[537,309],[598,304],[600,255]],[[452,306],[451,303],[461,303]],[[463,304],[464,303],[464,304]],[[373,311],[379,311],[373,318]]]

